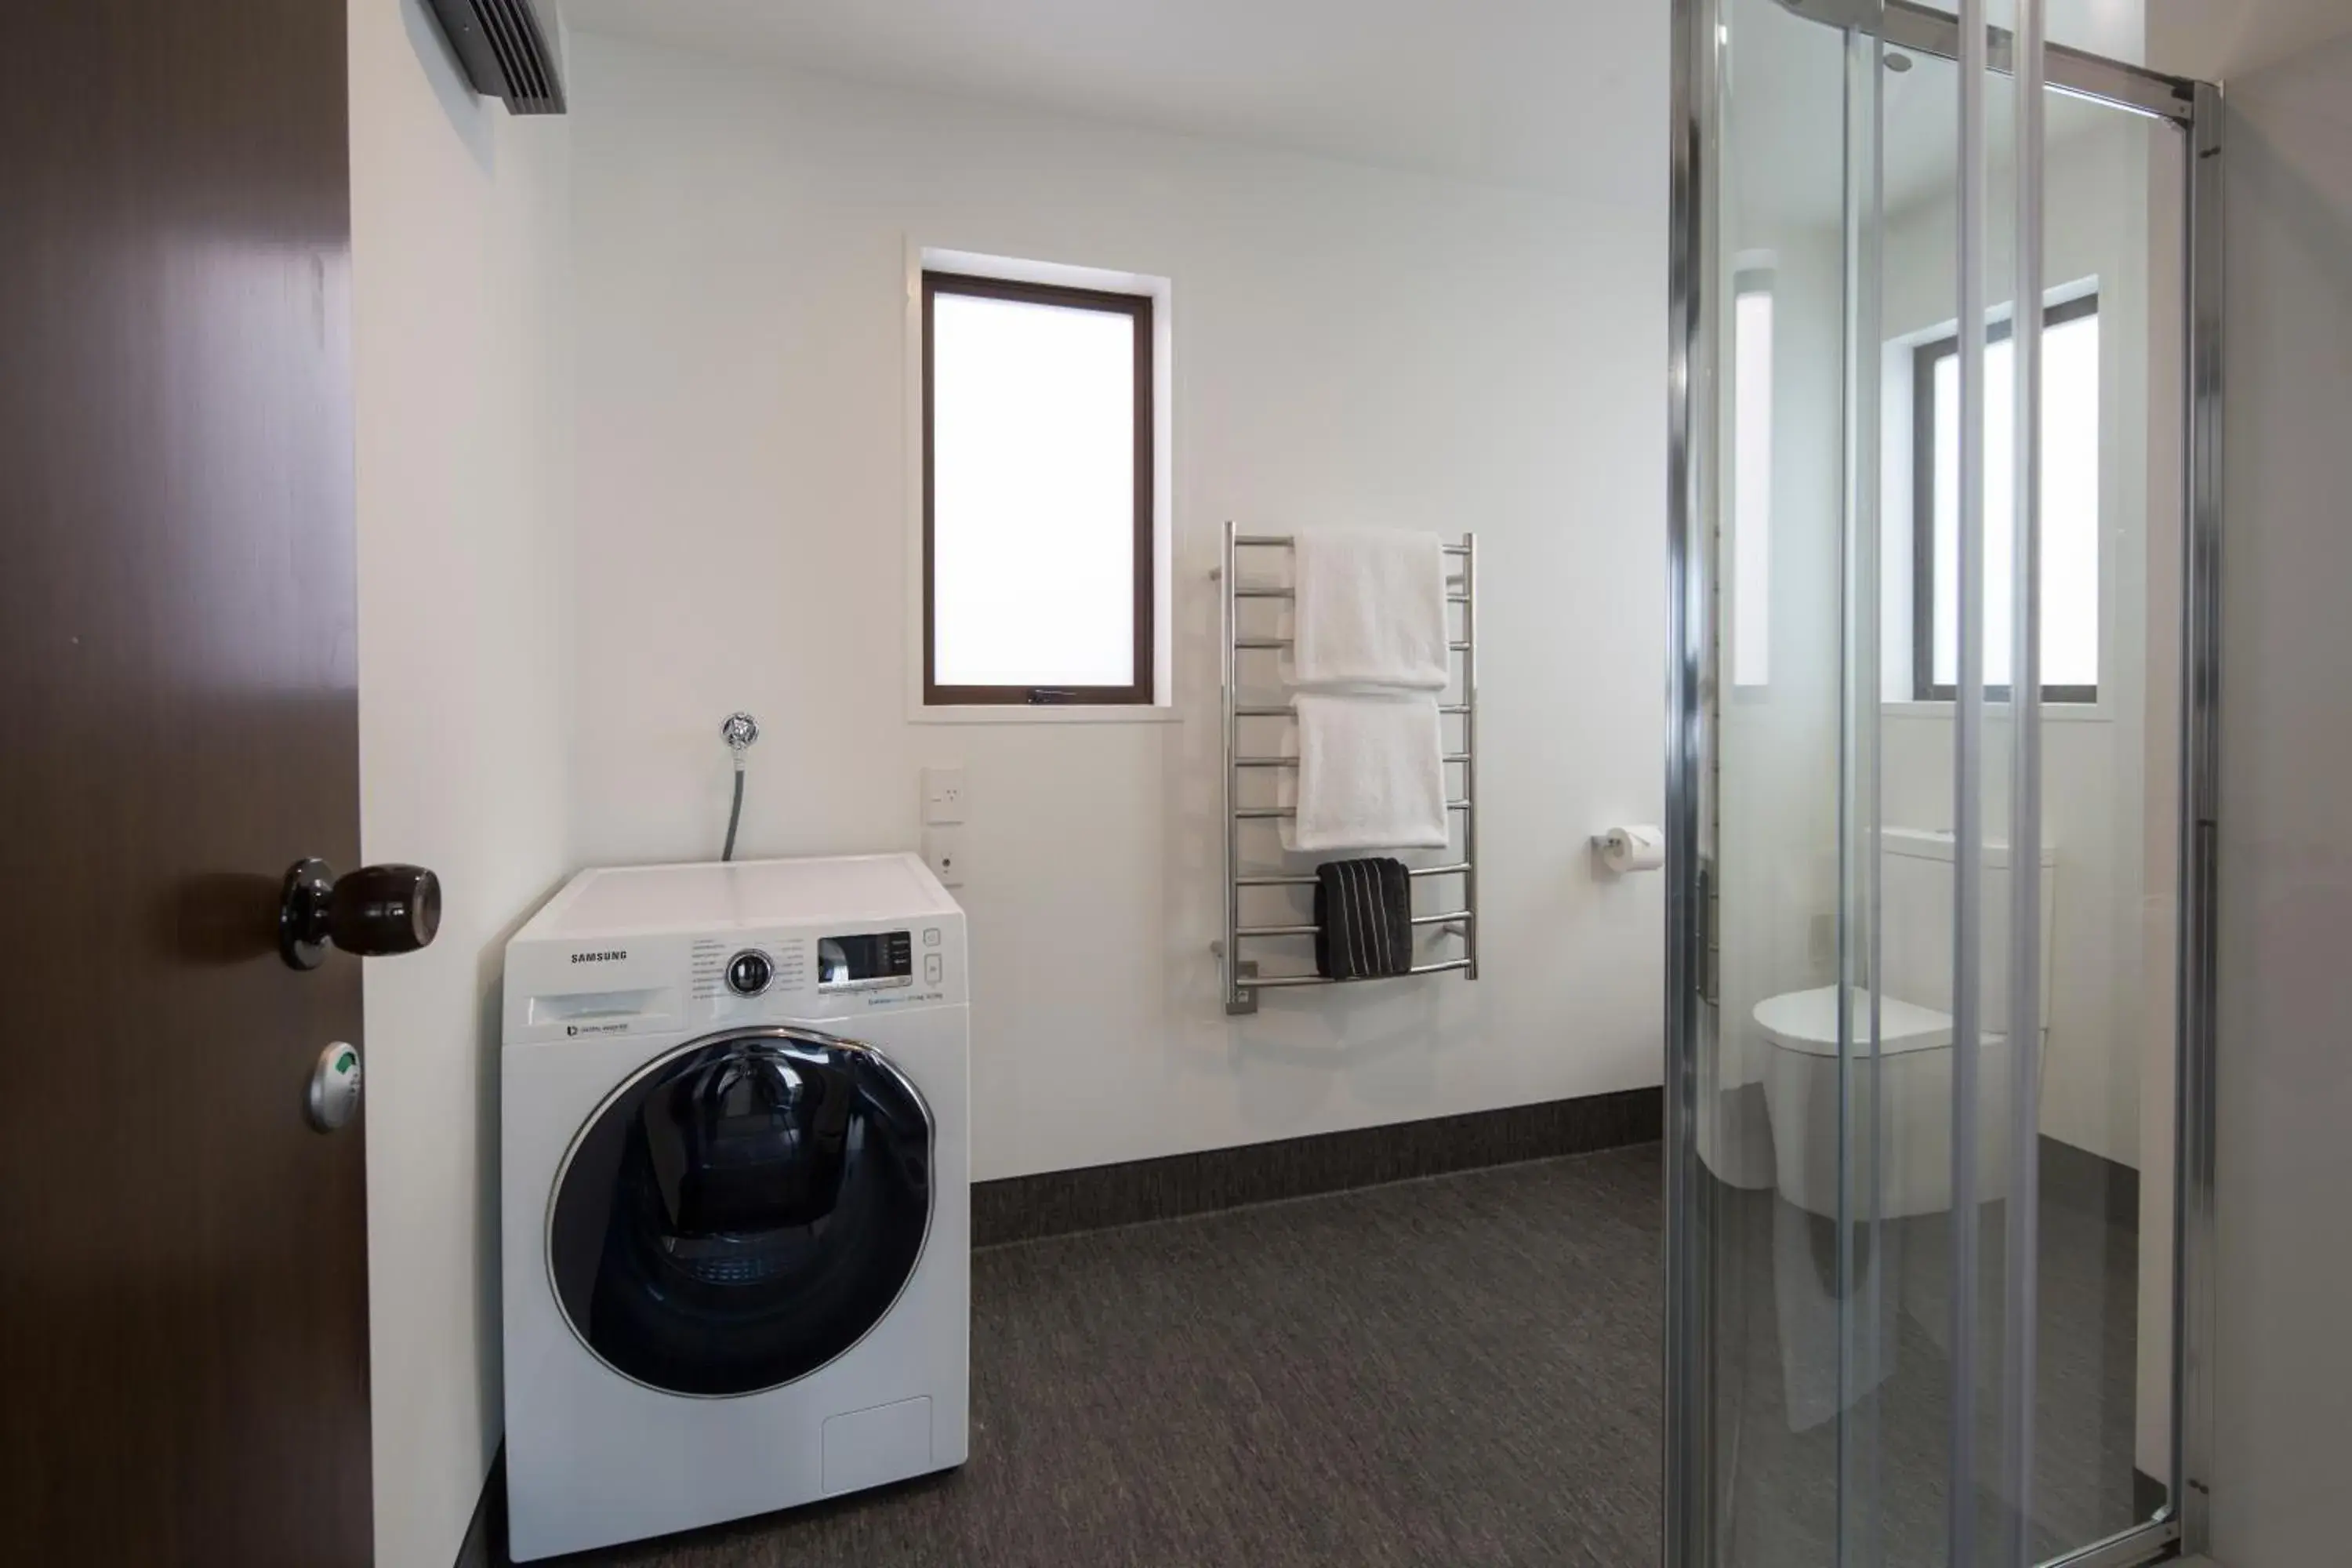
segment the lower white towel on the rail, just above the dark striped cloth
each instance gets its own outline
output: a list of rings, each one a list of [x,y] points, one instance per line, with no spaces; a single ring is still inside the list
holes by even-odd
[[[1444,849],[1444,731],[1428,691],[1301,691],[1296,783],[1284,778],[1282,846]],[[1289,773],[1291,769],[1284,769]]]

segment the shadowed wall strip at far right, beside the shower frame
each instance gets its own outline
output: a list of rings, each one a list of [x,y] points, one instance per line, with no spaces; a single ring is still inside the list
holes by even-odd
[[[2345,1559],[2352,33],[2227,82],[2213,1556]]]

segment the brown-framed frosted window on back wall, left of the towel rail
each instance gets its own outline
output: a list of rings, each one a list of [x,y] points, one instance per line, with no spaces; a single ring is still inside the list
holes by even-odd
[[[1152,703],[1152,301],[922,275],[922,701]]]

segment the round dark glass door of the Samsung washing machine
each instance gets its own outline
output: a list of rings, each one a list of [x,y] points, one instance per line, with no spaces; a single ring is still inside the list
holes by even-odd
[[[581,1342],[673,1394],[807,1378],[880,1324],[931,1229],[931,1112],[873,1046],[729,1030],[588,1117],[548,1274]]]

